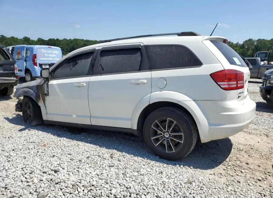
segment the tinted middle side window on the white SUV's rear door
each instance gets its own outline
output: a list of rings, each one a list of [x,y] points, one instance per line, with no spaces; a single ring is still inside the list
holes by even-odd
[[[98,74],[140,71],[140,63],[140,48],[102,51]]]

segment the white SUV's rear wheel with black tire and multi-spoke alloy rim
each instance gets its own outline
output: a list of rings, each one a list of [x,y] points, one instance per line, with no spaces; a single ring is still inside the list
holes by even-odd
[[[170,130],[171,133],[166,131],[167,119],[169,129],[172,128],[174,121],[176,122],[176,125]],[[161,124],[164,131],[158,132],[158,130],[155,130],[155,128],[160,128],[158,123]],[[179,160],[186,157],[193,150],[197,141],[197,128],[192,118],[185,112],[173,107],[162,107],[153,111],[147,117],[143,127],[143,137],[147,147],[158,157],[166,160]],[[152,137],[155,138],[152,139]],[[164,144],[166,141],[168,147]],[[156,146],[156,144],[158,145]]]

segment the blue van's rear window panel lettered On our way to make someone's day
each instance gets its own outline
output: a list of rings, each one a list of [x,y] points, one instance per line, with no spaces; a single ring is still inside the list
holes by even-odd
[[[59,61],[62,58],[62,51],[54,48],[38,48],[37,60]]]

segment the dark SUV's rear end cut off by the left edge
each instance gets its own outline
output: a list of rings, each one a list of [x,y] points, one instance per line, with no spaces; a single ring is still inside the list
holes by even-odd
[[[18,81],[19,76],[15,75],[15,60],[9,51],[0,45],[0,96],[11,96]]]

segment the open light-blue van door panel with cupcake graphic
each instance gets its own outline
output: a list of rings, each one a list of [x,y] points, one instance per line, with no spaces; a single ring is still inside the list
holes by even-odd
[[[25,45],[15,46],[13,58],[16,61],[18,75],[20,77],[25,77]]]

